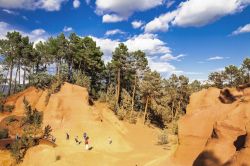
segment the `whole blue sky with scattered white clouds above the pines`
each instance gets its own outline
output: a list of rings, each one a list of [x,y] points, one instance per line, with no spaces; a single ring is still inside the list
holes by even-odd
[[[0,0],[0,38],[13,30],[33,42],[91,36],[105,62],[124,42],[162,76],[204,80],[250,57],[250,0]]]

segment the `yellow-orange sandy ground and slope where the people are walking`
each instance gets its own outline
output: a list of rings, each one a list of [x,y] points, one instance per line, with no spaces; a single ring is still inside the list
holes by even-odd
[[[84,165],[84,166],[160,166],[174,151],[172,144],[159,146],[159,129],[141,124],[119,121],[103,103],[88,104],[85,88],[65,83],[60,92],[53,94],[45,105],[46,91],[29,88],[11,97],[15,104],[12,114],[22,115],[25,96],[33,107],[44,112],[44,126],[53,128],[57,147],[39,145],[28,150],[22,166]],[[0,115],[0,120],[5,117]],[[66,140],[66,132],[70,140]],[[83,140],[83,132],[90,137],[92,150],[77,145],[76,136]],[[111,137],[113,143],[108,143]],[[0,165],[10,165],[8,152],[0,152]]]

